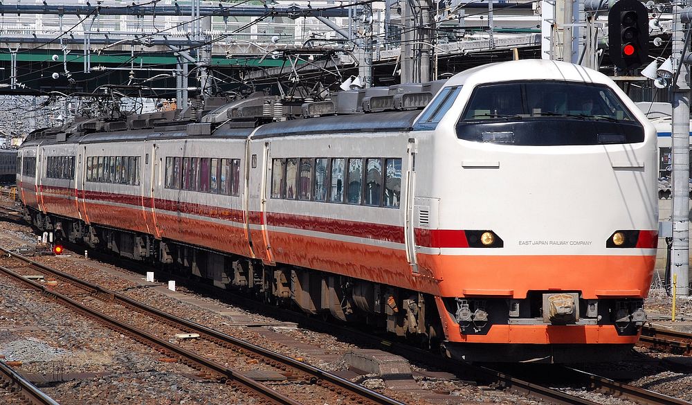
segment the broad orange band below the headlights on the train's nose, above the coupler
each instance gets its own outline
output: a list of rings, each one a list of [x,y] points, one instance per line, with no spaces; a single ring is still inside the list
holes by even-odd
[[[418,255],[419,265],[438,278],[445,297],[507,296],[527,291],[581,291],[585,299],[638,297],[648,294],[654,255]],[[483,290],[489,290],[483,294]],[[466,290],[466,294],[464,294]],[[494,292],[493,292],[494,291]]]

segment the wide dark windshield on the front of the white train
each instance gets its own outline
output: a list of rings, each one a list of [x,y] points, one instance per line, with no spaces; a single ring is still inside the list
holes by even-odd
[[[644,141],[644,127],[604,85],[502,82],[473,90],[457,136],[514,145],[597,145]]]

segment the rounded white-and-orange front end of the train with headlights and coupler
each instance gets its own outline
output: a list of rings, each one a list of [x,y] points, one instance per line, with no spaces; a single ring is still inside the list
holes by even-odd
[[[416,174],[430,211],[417,264],[439,280],[449,354],[627,352],[655,264],[657,149],[617,85],[563,62],[493,64],[448,80],[415,129],[432,134],[417,157],[432,162]]]

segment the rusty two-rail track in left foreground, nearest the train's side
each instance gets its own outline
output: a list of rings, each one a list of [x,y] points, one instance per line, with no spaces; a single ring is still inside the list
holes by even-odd
[[[385,397],[384,395],[376,393],[376,391],[359,386],[358,384],[354,384],[346,379],[331,375],[331,373],[324,370],[320,370],[306,363],[302,363],[302,361],[285,357],[282,354],[278,354],[276,352],[272,352],[271,350],[261,348],[260,346],[236,339],[233,336],[217,332],[208,327],[204,327],[203,325],[192,323],[172,314],[167,314],[166,312],[149,307],[143,303],[138,303],[136,300],[131,300],[130,298],[122,296],[116,292],[103,289],[98,285],[94,285],[90,282],[75,278],[69,274],[46,267],[44,264],[40,264],[24,256],[16,255],[15,253],[12,253],[6,249],[0,248],[0,250],[7,255],[10,255],[14,260],[19,260],[21,264],[18,266],[18,268],[23,268],[25,272],[26,269],[30,269],[30,271],[33,273],[39,271],[46,276],[51,276],[60,279],[63,282],[71,283],[73,287],[76,286],[82,291],[75,293],[75,288],[63,288],[63,292],[60,293],[57,292],[56,287],[49,289],[38,282],[28,280],[21,273],[12,271],[12,269],[9,269],[8,267],[0,267],[0,272],[15,278],[15,280],[24,282],[25,284],[30,285],[39,291],[42,291],[43,294],[52,296],[57,300],[60,300],[62,303],[78,309],[78,311],[83,312],[84,314],[96,318],[98,321],[104,323],[108,327],[111,327],[113,330],[118,330],[121,333],[127,333],[142,343],[157,348],[170,356],[181,359],[183,363],[187,363],[194,368],[208,372],[208,377],[210,378],[219,379],[226,384],[236,386],[236,388],[251,390],[258,393],[267,403],[299,404],[300,402],[295,401],[295,399],[291,399],[291,397],[283,395],[282,393],[260,383],[259,381],[255,381],[255,379],[251,377],[247,377],[245,375],[248,374],[246,370],[229,368],[219,363],[219,361],[210,359],[210,357],[217,359],[233,358],[238,356],[247,357],[248,359],[255,360],[255,363],[261,362],[267,366],[270,366],[271,368],[277,370],[277,372],[280,372],[280,374],[286,375],[289,380],[298,380],[300,384],[311,384],[313,389],[328,390],[331,393],[336,393],[336,395],[343,396],[350,401],[346,403],[401,405],[401,402],[389,397]],[[139,327],[137,327],[129,322],[118,319],[122,318],[122,316],[113,314],[113,312],[111,312],[111,314],[105,314],[102,310],[95,309],[97,305],[94,305],[93,299],[89,299],[89,305],[84,305],[84,303],[80,303],[78,299],[74,298],[75,296],[84,296],[84,291],[88,293],[89,297],[98,298],[101,303],[106,303],[111,307],[113,307],[113,305],[120,305],[129,309],[129,316],[131,316],[132,312],[137,312],[138,314],[143,314],[149,317],[149,319],[144,322],[139,322]],[[122,314],[122,312],[120,312],[120,314]],[[182,345],[170,343],[161,336],[156,336],[157,334],[161,334],[161,332],[158,330],[152,332],[154,329],[153,327],[149,327],[147,330],[144,330],[144,328],[141,326],[143,324],[152,325],[153,323],[166,324],[176,331],[183,330],[188,334],[199,334],[199,338],[201,340],[213,343],[216,346],[215,351],[212,352],[213,355],[204,356],[198,354],[197,350],[204,350],[204,348],[201,348],[201,344],[193,343],[188,345],[188,348],[183,348]],[[167,336],[171,336],[171,333],[167,333]],[[226,350],[225,354],[223,350]],[[208,354],[210,353],[208,349],[207,352]]]

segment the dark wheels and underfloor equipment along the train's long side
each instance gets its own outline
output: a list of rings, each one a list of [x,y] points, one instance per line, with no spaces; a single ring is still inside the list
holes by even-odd
[[[311,316],[360,323],[435,350],[444,340],[434,298],[419,291],[289,264],[270,266],[261,260],[87,225],[30,208],[24,208],[24,219],[39,231],[53,232],[57,240],[146,262],[221,289],[243,291],[265,303],[298,308]]]

